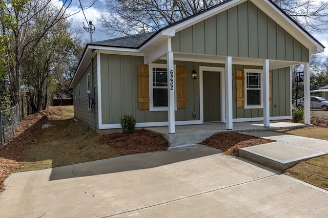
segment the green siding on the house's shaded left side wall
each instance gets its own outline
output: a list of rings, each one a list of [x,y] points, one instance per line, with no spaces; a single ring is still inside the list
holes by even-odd
[[[93,68],[91,73],[91,66]],[[95,88],[95,110],[91,113],[91,110],[88,110],[88,87],[87,87],[87,78],[88,74],[92,75],[92,86]],[[80,87],[80,95],[81,95],[81,109],[78,109],[78,89]],[[83,120],[84,122],[90,124],[91,126],[96,126],[98,128],[98,91],[97,91],[97,58],[94,57],[92,59],[92,64],[90,62],[88,68],[84,72],[84,74],[79,79],[79,82],[75,85],[73,94],[76,96],[77,102],[74,102],[74,117],[77,119]],[[75,96],[74,96],[75,100]],[[75,104],[77,105],[77,109],[75,109]]]

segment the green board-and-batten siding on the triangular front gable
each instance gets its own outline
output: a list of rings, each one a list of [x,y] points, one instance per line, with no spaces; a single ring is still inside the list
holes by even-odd
[[[177,32],[172,50],[309,62],[309,50],[249,1]]]

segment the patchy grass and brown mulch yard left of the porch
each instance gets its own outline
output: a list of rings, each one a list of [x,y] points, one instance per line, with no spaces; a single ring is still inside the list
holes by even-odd
[[[43,124],[43,129],[37,135],[35,143],[26,151],[20,161],[20,167],[15,172],[66,166],[168,148],[168,142],[163,137],[145,130],[136,130],[132,135],[113,133],[99,136],[87,124],[74,121],[73,106],[60,106],[60,109],[61,116],[53,117]]]

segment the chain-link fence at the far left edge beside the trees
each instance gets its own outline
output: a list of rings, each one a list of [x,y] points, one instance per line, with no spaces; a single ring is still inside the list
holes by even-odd
[[[14,138],[19,126],[19,105],[0,111],[0,146]]]

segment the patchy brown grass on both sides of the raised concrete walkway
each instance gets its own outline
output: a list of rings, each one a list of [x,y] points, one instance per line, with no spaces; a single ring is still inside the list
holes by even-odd
[[[319,126],[308,126],[298,129],[282,129],[280,133],[292,134],[314,139],[328,140],[328,128]],[[328,146],[328,141],[327,141]],[[284,173],[310,183],[317,187],[328,190],[328,155],[302,161],[295,166],[286,169]]]

